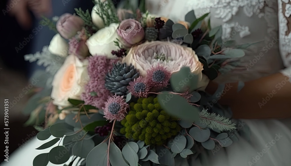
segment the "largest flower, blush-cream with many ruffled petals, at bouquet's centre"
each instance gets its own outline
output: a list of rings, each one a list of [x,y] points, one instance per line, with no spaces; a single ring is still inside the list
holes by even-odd
[[[178,72],[183,66],[190,67],[199,81],[202,79],[203,64],[195,51],[172,42],[153,41],[137,45],[129,50],[122,62],[134,65],[141,76],[146,76],[148,69],[159,64],[171,73]]]

